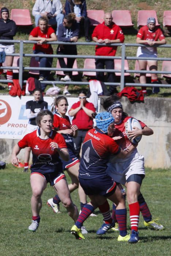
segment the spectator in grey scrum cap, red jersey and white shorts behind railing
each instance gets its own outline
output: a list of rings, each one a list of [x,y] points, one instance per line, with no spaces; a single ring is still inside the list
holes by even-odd
[[[158,41],[159,39],[159,41]],[[137,57],[157,57],[157,48],[153,45],[166,44],[166,39],[161,29],[156,27],[156,19],[148,18],[147,25],[140,28],[136,39],[137,44],[144,44],[137,49]],[[146,70],[147,65],[150,71],[157,71],[157,60],[138,60],[140,70]],[[146,83],[145,74],[140,74],[140,83]],[[151,74],[151,83],[159,83],[157,74]],[[144,93],[147,93],[146,87],[142,87]],[[159,93],[159,87],[153,87],[153,93]]]

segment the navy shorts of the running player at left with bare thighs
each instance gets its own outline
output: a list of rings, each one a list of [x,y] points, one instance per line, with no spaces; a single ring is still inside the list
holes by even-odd
[[[60,181],[61,179],[63,178],[66,178],[65,177],[65,174],[64,173],[38,173],[38,172],[32,172],[31,175],[33,174],[39,174],[41,175],[43,178],[45,178],[46,182],[50,183],[50,186],[53,186],[54,184],[56,184],[58,181]]]

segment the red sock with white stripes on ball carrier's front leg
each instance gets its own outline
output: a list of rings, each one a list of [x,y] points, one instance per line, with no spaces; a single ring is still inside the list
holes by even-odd
[[[140,205],[138,202],[129,204],[129,214],[131,222],[131,230],[138,231],[138,222],[140,218]]]

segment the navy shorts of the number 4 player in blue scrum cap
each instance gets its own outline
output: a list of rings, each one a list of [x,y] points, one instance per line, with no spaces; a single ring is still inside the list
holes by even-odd
[[[108,175],[94,179],[84,180],[79,177],[79,182],[86,195],[111,196],[117,187],[116,182]]]

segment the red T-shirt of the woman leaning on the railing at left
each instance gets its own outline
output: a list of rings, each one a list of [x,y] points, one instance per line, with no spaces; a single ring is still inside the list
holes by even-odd
[[[44,37],[44,38],[50,38],[50,35],[52,33],[55,33],[55,31],[52,29],[52,27],[48,27],[45,33],[42,33],[39,27],[35,27],[30,35],[33,37]],[[33,50],[41,50],[42,52],[45,52],[47,54],[53,54],[52,46],[49,44],[34,44]]]

